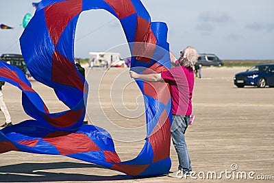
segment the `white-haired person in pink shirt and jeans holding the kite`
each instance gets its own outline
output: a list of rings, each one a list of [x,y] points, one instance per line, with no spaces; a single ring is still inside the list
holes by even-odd
[[[173,145],[179,159],[178,170],[169,173],[169,176],[179,178],[188,175],[191,168],[191,161],[185,141],[186,128],[189,125],[190,114],[192,113],[192,90],[194,86],[193,66],[197,62],[199,53],[193,47],[186,47],[181,51],[179,60],[174,60],[171,53],[171,62],[177,66],[169,71],[153,74],[138,74],[130,71],[132,78],[145,80],[147,82],[167,82],[171,87],[171,110],[172,120],[171,136]]]

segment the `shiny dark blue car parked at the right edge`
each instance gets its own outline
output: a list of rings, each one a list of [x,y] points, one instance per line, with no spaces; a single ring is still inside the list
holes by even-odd
[[[244,86],[274,87],[274,63],[258,64],[245,72],[237,73],[234,77],[234,84],[238,88]]]

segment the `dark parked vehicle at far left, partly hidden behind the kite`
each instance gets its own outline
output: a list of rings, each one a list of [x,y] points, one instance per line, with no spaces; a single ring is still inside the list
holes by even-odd
[[[24,58],[21,54],[5,53],[1,55],[0,60],[7,62],[8,64],[17,66],[25,74],[27,74],[27,66],[25,65]]]

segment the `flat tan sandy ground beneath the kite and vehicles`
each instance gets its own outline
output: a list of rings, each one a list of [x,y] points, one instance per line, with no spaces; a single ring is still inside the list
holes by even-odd
[[[133,179],[72,158],[10,151],[0,154],[0,182],[273,182],[274,88],[236,88],[234,74],[245,70],[203,68],[203,77],[195,80],[195,121],[186,132],[192,177]],[[144,104],[128,72],[86,71],[90,85],[86,119],[112,134],[121,160],[135,158],[145,143]],[[34,80],[32,86],[50,112],[67,109],[51,88]],[[3,95],[13,123],[29,119],[21,106],[20,90],[5,84]],[[4,121],[0,114],[0,124]],[[171,160],[171,171],[175,171],[177,155],[172,144]]]

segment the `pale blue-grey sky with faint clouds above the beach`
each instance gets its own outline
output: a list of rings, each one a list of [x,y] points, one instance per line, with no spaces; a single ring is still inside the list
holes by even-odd
[[[151,21],[169,28],[168,42],[175,56],[191,45],[199,53],[215,53],[223,60],[274,60],[273,0],[141,0]],[[23,16],[34,15],[35,0],[0,0],[0,53],[21,53]],[[75,34],[75,57],[90,51],[127,47],[118,19],[105,10],[82,12]],[[127,53],[124,53],[127,54]],[[123,56],[123,53],[122,53]],[[125,56],[124,56],[125,57]]]

